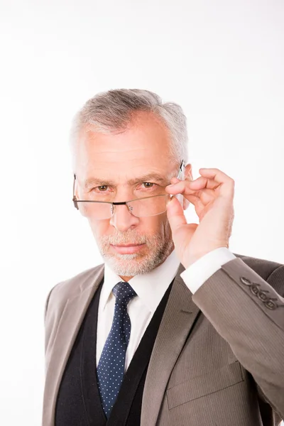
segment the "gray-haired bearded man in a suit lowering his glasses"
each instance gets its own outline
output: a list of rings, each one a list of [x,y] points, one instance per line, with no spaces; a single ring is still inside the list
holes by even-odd
[[[73,202],[105,263],[48,295],[43,426],[278,425],[284,266],[229,251],[234,180],[192,180],[182,109],[97,94],[72,153]]]

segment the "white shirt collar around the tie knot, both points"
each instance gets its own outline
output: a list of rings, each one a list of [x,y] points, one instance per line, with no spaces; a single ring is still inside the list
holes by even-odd
[[[170,283],[175,278],[180,266],[180,261],[175,253],[175,250],[170,253],[170,256],[158,266],[148,273],[136,275],[129,280],[129,284],[133,290],[137,293],[138,297],[141,298],[142,302],[148,307],[148,310],[155,312],[160,300],[162,300],[165,291],[167,290]],[[112,289],[114,285],[119,283],[121,278],[111,270],[107,263],[104,264],[104,285],[102,286],[102,293],[100,296],[100,304],[102,304],[102,310],[107,305],[107,302],[111,297],[114,297]]]

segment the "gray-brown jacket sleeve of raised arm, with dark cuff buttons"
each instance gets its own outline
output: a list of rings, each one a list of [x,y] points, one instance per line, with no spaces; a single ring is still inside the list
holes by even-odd
[[[275,290],[277,289],[277,291]],[[236,258],[192,295],[239,362],[261,398],[284,418],[284,266],[263,280]]]

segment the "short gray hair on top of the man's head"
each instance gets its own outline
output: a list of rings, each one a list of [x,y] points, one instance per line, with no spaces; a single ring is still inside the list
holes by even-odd
[[[156,114],[170,131],[170,153],[173,158],[187,163],[187,125],[182,108],[173,102],[163,104],[153,92],[143,89],[114,89],[101,92],[89,99],[77,112],[70,135],[71,149],[86,125],[94,125],[102,133],[114,133],[126,129],[133,115],[139,111]]]

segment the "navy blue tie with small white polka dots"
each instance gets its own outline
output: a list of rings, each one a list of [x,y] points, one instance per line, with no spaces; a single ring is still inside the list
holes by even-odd
[[[131,330],[127,305],[136,296],[131,285],[124,281],[116,284],[112,293],[116,297],[114,319],[97,366],[99,393],[107,418],[109,418],[124,378],[126,349]]]

